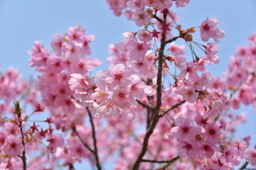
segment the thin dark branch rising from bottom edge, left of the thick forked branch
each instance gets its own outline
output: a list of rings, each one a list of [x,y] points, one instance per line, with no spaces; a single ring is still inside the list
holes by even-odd
[[[92,126],[92,140],[93,140],[93,146],[94,146],[94,155],[95,155],[95,160],[96,160],[96,166],[98,170],[101,170],[101,166],[100,166],[100,159],[98,156],[98,152],[97,152],[97,139],[96,139],[96,132],[95,132],[95,125],[93,123],[92,120],[92,113],[90,112],[89,108],[86,108],[89,117],[90,117],[90,124]]]

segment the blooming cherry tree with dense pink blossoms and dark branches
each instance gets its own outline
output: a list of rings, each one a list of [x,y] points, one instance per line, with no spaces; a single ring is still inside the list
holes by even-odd
[[[110,160],[114,169],[256,166],[250,136],[234,137],[245,121],[235,110],[256,108],[256,33],[213,77],[207,67],[218,64],[225,31],[217,18],[183,28],[174,10],[189,2],[107,0],[138,30],[110,45],[110,67],[95,75],[102,62],[88,57],[95,36],[82,26],[53,35],[52,50],[34,42],[33,84],[14,68],[0,76],[1,169],[75,169],[85,160],[97,169]]]

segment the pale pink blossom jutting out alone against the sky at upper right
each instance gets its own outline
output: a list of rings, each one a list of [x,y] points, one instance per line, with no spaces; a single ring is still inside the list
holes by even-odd
[[[224,30],[217,28],[219,25],[218,19],[216,18],[206,18],[205,21],[200,26],[201,39],[203,41],[208,41],[209,38],[213,38],[215,42],[219,42],[220,38],[225,35]]]

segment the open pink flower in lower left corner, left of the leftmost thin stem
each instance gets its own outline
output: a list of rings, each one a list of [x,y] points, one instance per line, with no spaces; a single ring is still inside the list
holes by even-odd
[[[6,143],[3,146],[3,151],[8,154],[9,157],[16,157],[23,152],[23,145],[19,137],[9,135],[6,139]]]

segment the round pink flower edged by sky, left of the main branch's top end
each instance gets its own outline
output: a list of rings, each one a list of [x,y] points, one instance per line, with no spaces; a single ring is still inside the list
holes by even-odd
[[[146,11],[143,9],[137,9],[132,14],[132,21],[136,22],[137,26],[143,26],[149,24],[150,18]]]

